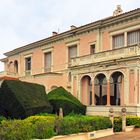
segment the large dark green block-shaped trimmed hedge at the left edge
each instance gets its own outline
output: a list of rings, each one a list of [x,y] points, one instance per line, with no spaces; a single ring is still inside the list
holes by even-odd
[[[0,115],[11,118],[52,111],[45,87],[15,80],[4,80],[0,88]]]

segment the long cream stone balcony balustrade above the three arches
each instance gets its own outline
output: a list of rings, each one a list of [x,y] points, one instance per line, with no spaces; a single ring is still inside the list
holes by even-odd
[[[140,45],[127,46],[71,59],[69,67],[87,65],[140,55]]]

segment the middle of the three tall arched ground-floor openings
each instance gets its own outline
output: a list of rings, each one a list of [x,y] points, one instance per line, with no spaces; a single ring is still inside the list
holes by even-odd
[[[94,94],[96,105],[107,104],[107,80],[104,74],[98,74],[94,80]]]

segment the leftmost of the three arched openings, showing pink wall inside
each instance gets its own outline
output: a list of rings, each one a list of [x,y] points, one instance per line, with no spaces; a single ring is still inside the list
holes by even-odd
[[[85,105],[92,105],[92,81],[90,76],[85,75],[81,79],[81,99]]]

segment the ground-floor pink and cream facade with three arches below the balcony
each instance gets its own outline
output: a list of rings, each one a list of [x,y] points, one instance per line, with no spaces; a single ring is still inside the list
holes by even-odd
[[[108,115],[111,107],[119,114],[126,107],[129,114],[140,116],[139,72],[128,68],[82,73],[74,76],[72,91],[88,106],[87,114]]]

